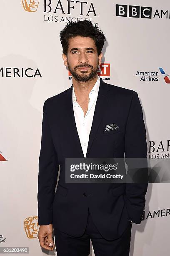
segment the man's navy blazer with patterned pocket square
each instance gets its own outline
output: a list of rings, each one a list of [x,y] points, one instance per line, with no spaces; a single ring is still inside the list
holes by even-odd
[[[105,132],[105,125],[112,123],[119,129]],[[124,157],[147,158],[142,107],[137,92],[100,79],[86,158]],[[44,102],[37,194],[39,225],[53,224],[62,232],[82,236],[88,208],[97,229],[108,240],[119,238],[129,220],[140,224],[148,183],[66,183],[65,158],[84,158],[74,118],[72,86]]]

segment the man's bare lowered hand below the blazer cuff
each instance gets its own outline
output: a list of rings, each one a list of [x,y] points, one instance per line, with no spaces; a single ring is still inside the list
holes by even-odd
[[[52,238],[52,231],[52,224],[40,225],[38,231],[38,239],[40,242],[40,246],[48,251],[53,251],[55,247],[55,244],[53,243],[54,238]]]

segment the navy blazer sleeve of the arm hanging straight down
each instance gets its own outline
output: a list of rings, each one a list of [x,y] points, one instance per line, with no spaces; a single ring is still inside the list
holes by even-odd
[[[42,136],[38,172],[38,224],[52,224],[52,205],[58,175],[58,160],[47,118],[47,100],[43,106]]]

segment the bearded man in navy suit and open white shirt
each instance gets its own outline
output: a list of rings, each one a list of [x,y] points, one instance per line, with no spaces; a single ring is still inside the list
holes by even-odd
[[[60,40],[72,86],[44,103],[40,246],[53,250],[54,228],[57,256],[89,255],[90,239],[95,256],[128,256],[132,222],[140,224],[148,184],[66,183],[65,159],[145,159],[146,131],[138,94],[97,76],[105,36],[90,21],[67,23]]]

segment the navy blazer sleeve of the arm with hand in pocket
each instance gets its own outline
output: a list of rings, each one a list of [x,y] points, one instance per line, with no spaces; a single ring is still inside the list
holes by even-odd
[[[128,165],[128,172],[130,172],[130,164],[132,163],[128,159],[140,159],[141,163],[145,164],[145,168],[140,169],[140,177],[143,176],[145,182],[139,183],[138,179],[138,183],[126,183],[125,204],[130,220],[140,224],[145,209],[145,194],[148,189],[147,143],[143,110],[138,93],[135,91],[133,93],[125,131],[125,161]]]

